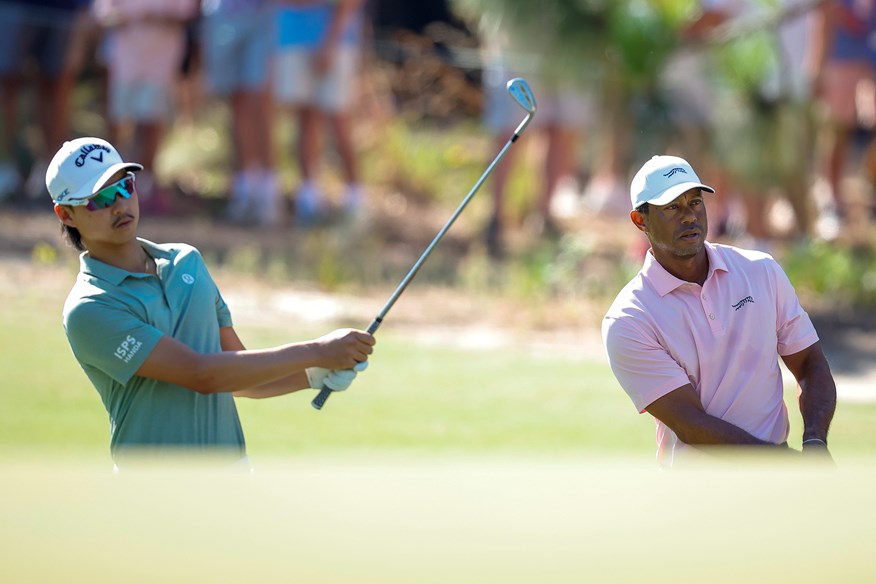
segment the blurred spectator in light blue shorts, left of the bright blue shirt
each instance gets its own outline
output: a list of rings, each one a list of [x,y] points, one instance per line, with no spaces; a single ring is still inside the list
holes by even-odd
[[[235,148],[227,217],[273,225],[283,219],[269,90],[274,0],[203,0],[209,90],[228,98]]]

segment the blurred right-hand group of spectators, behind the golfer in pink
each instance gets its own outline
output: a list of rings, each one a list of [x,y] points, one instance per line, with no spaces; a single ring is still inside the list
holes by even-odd
[[[709,199],[713,241],[769,251],[778,237],[834,241],[851,225],[866,229],[876,179],[876,2],[694,0],[673,23],[660,14],[669,2],[619,4],[575,23],[577,36],[603,44],[572,51],[575,64],[561,32],[568,13],[549,3],[481,19],[492,56],[487,87],[529,71],[539,89],[536,125],[547,145],[537,225],[556,232],[555,217],[576,206],[625,215],[629,169],[670,153],[718,189]],[[510,123],[487,120],[504,131]],[[493,183],[487,241],[496,253],[509,172]]]

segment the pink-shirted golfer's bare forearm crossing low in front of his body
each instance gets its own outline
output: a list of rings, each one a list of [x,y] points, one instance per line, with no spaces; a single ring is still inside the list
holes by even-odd
[[[742,428],[706,413],[700,396],[688,384],[675,389],[645,408],[669,426],[679,440],[694,446],[773,445]],[[773,445],[774,446],[774,445]]]

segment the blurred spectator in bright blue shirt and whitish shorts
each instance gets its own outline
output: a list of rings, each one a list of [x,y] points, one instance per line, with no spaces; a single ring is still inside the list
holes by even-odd
[[[355,215],[364,203],[353,143],[352,108],[364,20],[364,0],[285,0],[279,12],[275,95],[298,120],[296,220],[309,225],[325,211],[318,185],[322,124],[327,121],[345,180],[343,205]]]

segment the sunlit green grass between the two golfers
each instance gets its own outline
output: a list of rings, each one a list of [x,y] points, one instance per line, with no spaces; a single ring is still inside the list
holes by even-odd
[[[635,452],[653,443],[601,362],[464,351],[381,334],[372,365],[322,412],[312,394],[241,401],[251,451]]]

